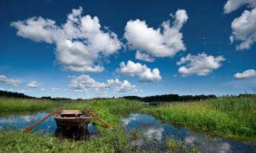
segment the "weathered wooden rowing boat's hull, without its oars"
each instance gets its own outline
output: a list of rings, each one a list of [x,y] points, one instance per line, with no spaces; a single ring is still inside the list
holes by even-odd
[[[79,110],[63,110],[54,117],[58,128],[86,129],[92,117]]]

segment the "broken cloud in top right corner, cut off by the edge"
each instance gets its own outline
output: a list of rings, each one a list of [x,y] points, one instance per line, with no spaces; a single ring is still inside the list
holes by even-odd
[[[231,43],[235,40],[242,41],[240,45],[236,46],[236,50],[249,49],[256,41],[256,1],[229,0],[224,6],[224,12],[229,14],[246,4],[251,10],[244,10],[242,15],[235,18],[231,23],[231,29],[233,30],[230,36]]]

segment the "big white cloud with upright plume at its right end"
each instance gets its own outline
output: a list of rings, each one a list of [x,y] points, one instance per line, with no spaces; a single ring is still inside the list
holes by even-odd
[[[161,27],[153,29],[145,21],[130,20],[126,24],[124,37],[130,49],[146,52],[156,57],[174,56],[180,50],[186,50],[182,41],[183,24],[188,20],[185,10],[177,10],[175,21],[170,27],[170,22],[162,22]]]

